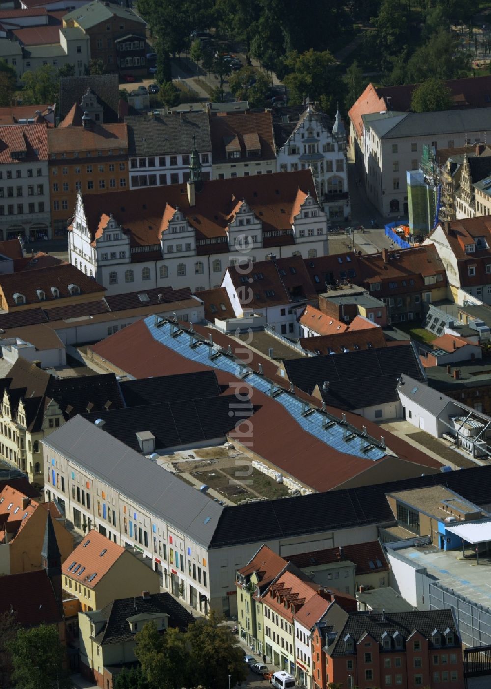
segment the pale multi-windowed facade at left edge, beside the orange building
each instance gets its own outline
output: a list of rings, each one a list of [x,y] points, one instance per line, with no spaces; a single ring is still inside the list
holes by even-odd
[[[0,165],[0,240],[19,235],[51,238],[48,161]]]

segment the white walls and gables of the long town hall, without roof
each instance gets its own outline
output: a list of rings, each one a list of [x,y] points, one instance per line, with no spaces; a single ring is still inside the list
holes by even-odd
[[[163,208],[164,211],[164,208]],[[104,208],[101,207],[101,214]],[[123,218],[124,219],[124,218]],[[246,229],[247,228],[247,229]],[[94,232],[95,228],[91,228]],[[246,244],[246,234],[251,238]],[[278,234],[284,234],[278,230]],[[294,243],[264,247],[263,239],[275,236],[275,231],[263,232],[262,221],[253,209],[242,203],[240,211],[231,220],[227,236],[211,240],[198,240],[196,230],[184,214],[176,210],[169,228],[162,233],[160,243],[152,247],[130,247],[129,236],[124,234],[118,218],[109,218],[102,236],[94,240],[87,226],[81,194],[77,196],[72,231],[69,232],[69,260],[74,267],[94,276],[107,289],[107,294],[126,294],[140,289],[153,289],[171,285],[174,289],[190,287],[192,291],[213,289],[222,285],[224,271],[240,258],[254,262],[267,260],[269,254],[277,258],[301,254],[315,258],[328,253],[327,218],[313,196],[307,196],[300,212],[293,219]],[[215,242],[214,239],[217,241]],[[209,253],[202,253],[202,246]],[[213,251],[213,247],[218,247]],[[136,262],[141,249],[156,249],[161,258]],[[132,263],[132,259],[134,263]],[[286,321],[288,322],[288,321]]]

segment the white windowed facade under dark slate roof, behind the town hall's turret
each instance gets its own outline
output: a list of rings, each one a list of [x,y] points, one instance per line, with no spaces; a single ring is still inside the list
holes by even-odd
[[[135,105],[135,107],[138,107]],[[143,107],[143,106],[142,106]],[[182,184],[189,178],[189,154],[129,158],[129,188]],[[202,178],[211,179],[211,150],[200,154]]]

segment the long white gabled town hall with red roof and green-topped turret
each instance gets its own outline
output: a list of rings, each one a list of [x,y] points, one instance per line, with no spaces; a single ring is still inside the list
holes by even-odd
[[[77,196],[70,263],[108,294],[171,285],[222,285],[239,260],[328,253],[327,216],[310,170],[202,181],[197,152],[189,182]]]

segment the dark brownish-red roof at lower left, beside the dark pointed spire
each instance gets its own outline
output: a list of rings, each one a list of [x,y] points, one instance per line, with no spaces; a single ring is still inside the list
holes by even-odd
[[[61,608],[45,569],[1,577],[0,614],[16,613],[23,627],[61,622]]]

